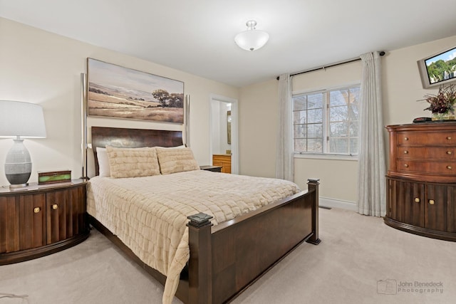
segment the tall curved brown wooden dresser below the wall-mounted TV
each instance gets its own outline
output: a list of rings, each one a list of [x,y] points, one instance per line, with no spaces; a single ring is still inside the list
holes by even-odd
[[[385,224],[456,241],[456,122],[389,125]]]

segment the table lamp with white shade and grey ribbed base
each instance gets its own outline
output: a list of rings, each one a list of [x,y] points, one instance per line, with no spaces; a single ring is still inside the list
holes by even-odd
[[[26,186],[31,174],[31,158],[22,138],[46,137],[41,105],[0,100],[0,137],[16,137],[5,161],[9,187]]]

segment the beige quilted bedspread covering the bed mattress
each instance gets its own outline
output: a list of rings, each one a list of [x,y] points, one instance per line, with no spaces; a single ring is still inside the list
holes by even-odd
[[[162,302],[171,303],[187,263],[187,216],[203,212],[212,224],[229,221],[299,192],[281,179],[194,170],[150,177],[93,177],[88,213],[144,262],[167,276]]]

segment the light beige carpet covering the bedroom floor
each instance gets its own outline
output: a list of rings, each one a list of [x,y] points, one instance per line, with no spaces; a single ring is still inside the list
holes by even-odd
[[[320,238],[318,246],[296,248],[233,303],[456,303],[456,243],[341,209],[320,209]],[[415,282],[439,286],[400,289]],[[162,290],[96,230],[66,251],[0,266],[0,294],[28,295],[0,295],[1,304],[161,303]]]

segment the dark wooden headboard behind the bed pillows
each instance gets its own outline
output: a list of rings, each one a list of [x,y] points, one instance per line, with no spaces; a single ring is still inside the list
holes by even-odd
[[[91,127],[95,174],[99,174],[97,147],[118,148],[177,147],[182,145],[182,131]]]

